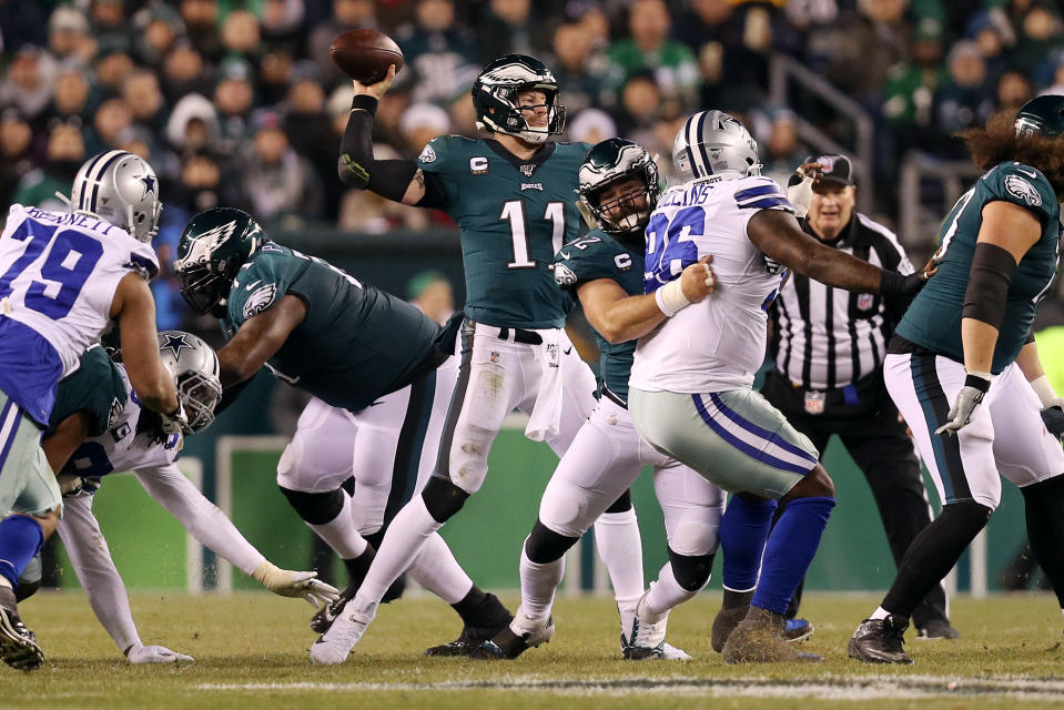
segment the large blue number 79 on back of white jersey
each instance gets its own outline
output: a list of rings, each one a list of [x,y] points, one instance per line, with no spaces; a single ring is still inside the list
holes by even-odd
[[[18,241],[29,240],[26,251],[0,276],[0,298],[11,293],[11,282],[32,264],[54,233],[53,229],[34,230],[27,222],[11,234]],[[53,321],[62,318],[74,306],[78,295],[103,256],[103,244],[81,232],[67,230],[52,244],[48,258],[41,265],[41,278],[30,283],[26,291],[26,307],[42,313]]]

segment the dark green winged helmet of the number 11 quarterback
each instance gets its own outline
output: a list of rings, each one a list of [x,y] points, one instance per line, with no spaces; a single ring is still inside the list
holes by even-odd
[[[521,91],[546,94],[546,128],[528,125],[517,100]],[[482,131],[516,135],[529,143],[543,143],[548,135],[559,135],[565,130],[558,82],[546,64],[528,54],[506,54],[480,70],[473,83],[473,108]]]

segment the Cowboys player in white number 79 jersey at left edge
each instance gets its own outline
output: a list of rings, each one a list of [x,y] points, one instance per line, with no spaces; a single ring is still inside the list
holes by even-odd
[[[44,660],[14,588],[61,509],[40,447],[55,384],[114,320],[141,402],[169,430],[186,425],[159,358],[148,288],[159,270],[150,246],[162,211],[156,185],[136,155],[101,153],[74,178],[68,214],[14,204],[0,235],[0,658],[17,668]]]

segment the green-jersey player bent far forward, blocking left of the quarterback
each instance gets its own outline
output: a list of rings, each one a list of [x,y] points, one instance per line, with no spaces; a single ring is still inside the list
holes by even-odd
[[[222,318],[229,343],[217,356],[226,397],[263,366],[314,395],[277,464],[277,485],[347,568],[344,595],[312,621],[325,631],[363,584],[393,516],[435,466],[456,379],[454,328],[440,329],[405,301],[270,241],[240,210],[193,217],[175,270],[193,310]],[[407,560],[411,575],[450,604],[465,627],[494,633],[509,622],[442,537],[429,536],[424,552]],[[402,588],[399,579],[389,584],[391,598]]]

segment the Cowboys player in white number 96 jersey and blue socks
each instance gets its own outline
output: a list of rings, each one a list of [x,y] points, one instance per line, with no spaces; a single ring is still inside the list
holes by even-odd
[[[673,161],[686,182],[666,192],[650,216],[645,274],[647,293],[670,318],[639,338],[632,420],[655,448],[737,494],[721,524],[721,548],[737,578],[757,579],[759,562],[761,572],[749,612],[727,635],[724,658],[819,660],[784,641],[783,612],[820,544],[834,486],[809,439],[751,388],[764,355],[766,308],[787,268],[886,297],[914,293],[921,276],[884,272],[804,234],[782,189],[760,176],[757,143],[727,113],[688,119]],[[811,184],[794,191],[805,195],[800,216]],[[708,254],[718,290],[688,305],[678,277]],[[771,536],[751,534],[768,531],[779,499],[787,510]]]

